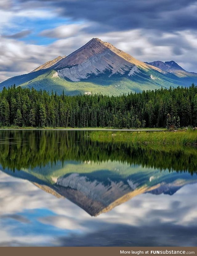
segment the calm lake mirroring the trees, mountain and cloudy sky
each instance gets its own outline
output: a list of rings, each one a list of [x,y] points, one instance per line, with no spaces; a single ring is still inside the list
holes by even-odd
[[[0,131],[0,246],[197,246],[197,149]]]

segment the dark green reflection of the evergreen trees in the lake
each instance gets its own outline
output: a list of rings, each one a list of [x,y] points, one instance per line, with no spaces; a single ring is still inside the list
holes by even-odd
[[[57,161],[119,161],[143,167],[197,170],[197,150],[189,147],[91,141],[87,131],[1,131],[2,168],[21,170]]]

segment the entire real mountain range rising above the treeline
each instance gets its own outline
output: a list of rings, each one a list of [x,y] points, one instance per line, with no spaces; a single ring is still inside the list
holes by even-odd
[[[9,78],[0,89],[13,84],[54,90],[69,95],[99,93],[119,95],[170,86],[197,83],[197,74],[174,61],[145,63],[98,38],[91,39],[70,55],[58,56],[28,74]]]

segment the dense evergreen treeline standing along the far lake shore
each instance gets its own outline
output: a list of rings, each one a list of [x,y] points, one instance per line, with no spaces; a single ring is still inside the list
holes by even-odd
[[[197,86],[120,96],[66,96],[11,86],[0,92],[0,126],[186,127],[197,126]]]

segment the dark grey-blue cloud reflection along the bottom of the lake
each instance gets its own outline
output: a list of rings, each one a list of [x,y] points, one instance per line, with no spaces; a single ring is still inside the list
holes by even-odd
[[[84,236],[60,237],[61,246],[196,246],[197,226],[183,227],[173,223],[130,226],[106,225]]]

